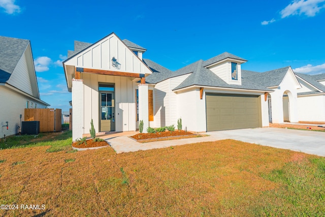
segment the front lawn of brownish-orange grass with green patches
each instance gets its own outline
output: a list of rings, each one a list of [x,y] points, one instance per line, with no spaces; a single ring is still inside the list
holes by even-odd
[[[325,158],[234,140],[0,150],[0,216],[324,216]],[[23,162],[23,163],[22,163]]]

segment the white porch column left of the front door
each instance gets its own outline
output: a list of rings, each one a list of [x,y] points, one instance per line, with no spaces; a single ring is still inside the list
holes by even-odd
[[[72,79],[72,140],[83,135],[83,80]]]

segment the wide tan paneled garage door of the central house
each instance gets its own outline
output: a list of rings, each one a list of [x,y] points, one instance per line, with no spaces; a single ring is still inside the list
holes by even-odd
[[[207,131],[261,127],[258,96],[206,94]]]

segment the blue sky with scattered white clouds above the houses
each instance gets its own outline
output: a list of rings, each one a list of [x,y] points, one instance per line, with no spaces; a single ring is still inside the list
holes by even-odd
[[[31,41],[41,99],[63,111],[67,50],[112,32],[170,70],[227,51],[248,60],[245,70],[325,73],[325,0],[0,0],[0,20],[1,36]]]

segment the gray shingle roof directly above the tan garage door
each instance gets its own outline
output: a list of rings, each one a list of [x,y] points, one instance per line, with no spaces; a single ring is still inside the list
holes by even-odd
[[[228,84],[214,74],[211,70],[204,68],[204,61],[199,60],[194,64],[191,64],[191,69],[193,73],[189,75],[180,85],[175,87],[173,90],[181,89],[184,87],[199,85],[199,86],[212,86],[212,87],[229,87],[229,88],[239,88],[239,89],[253,89],[253,90],[265,90],[270,91],[270,89],[252,83],[247,79],[242,79],[242,85]],[[186,67],[184,67],[186,68]]]

